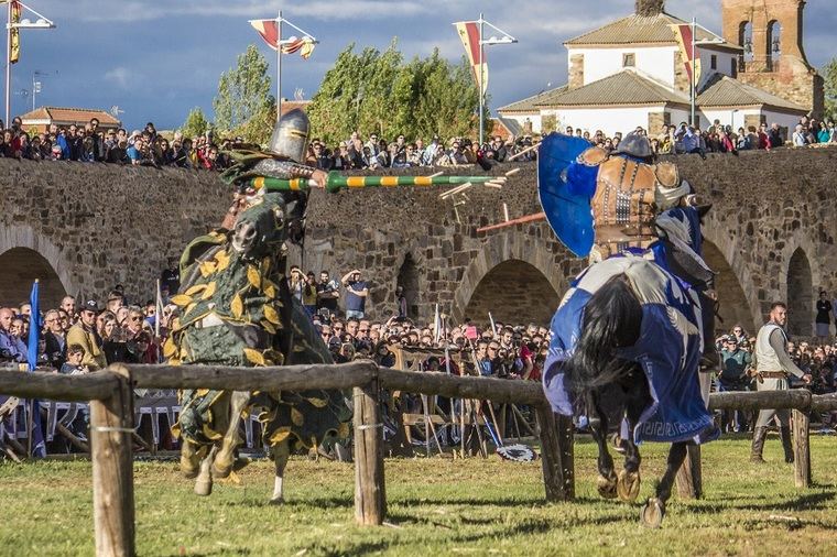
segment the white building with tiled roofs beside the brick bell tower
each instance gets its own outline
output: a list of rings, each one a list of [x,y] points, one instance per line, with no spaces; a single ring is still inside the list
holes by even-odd
[[[687,22],[656,3],[655,13],[634,13],[564,43],[567,85],[504,106],[500,117],[534,133],[573,127],[606,135],[637,127],[657,133],[663,124],[688,122],[691,83],[672,28]],[[793,129],[808,112],[736,79],[743,53],[738,44],[700,26],[695,43],[703,68],[695,102],[702,129],[715,120],[735,130],[762,122]]]

